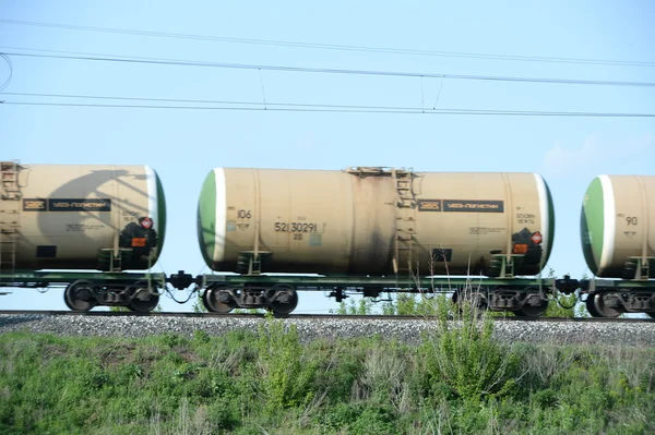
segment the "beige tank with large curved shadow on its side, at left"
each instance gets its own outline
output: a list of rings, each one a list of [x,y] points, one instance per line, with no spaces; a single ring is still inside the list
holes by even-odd
[[[0,273],[156,263],[166,203],[150,167],[0,165]]]

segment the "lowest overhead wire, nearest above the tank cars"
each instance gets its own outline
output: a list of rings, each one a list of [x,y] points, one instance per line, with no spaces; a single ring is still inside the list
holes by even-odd
[[[98,105],[83,102],[36,102],[0,101],[0,106],[50,106],[50,107],[95,107],[120,109],[178,109],[178,110],[234,110],[234,111],[284,111],[284,112],[341,112],[341,113],[404,113],[404,114],[467,114],[467,116],[517,116],[517,117],[588,117],[588,118],[655,118],[655,113],[610,113],[610,112],[564,112],[529,110],[473,110],[473,109],[349,109],[347,107],[236,107],[236,106],[162,106],[162,105]],[[258,102],[263,105],[263,102]],[[269,104],[270,105],[270,104]]]

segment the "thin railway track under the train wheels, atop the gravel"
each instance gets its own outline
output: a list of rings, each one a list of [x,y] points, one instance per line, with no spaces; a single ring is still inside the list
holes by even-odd
[[[223,317],[223,318],[264,318],[264,314],[217,314],[183,312],[73,312],[44,310],[0,310],[0,315],[39,315],[39,316],[87,316],[87,317]],[[352,315],[352,314],[289,314],[284,318],[291,319],[340,319],[340,321],[434,321],[426,316],[390,316],[390,315]],[[497,322],[546,322],[546,323],[655,323],[655,318],[609,318],[609,317],[495,317]]]

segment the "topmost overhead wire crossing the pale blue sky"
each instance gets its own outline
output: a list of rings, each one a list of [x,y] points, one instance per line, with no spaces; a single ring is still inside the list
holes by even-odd
[[[324,49],[324,50],[366,51],[366,52],[408,55],[408,56],[438,56],[438,57],[449,57],[449,58],[488,59],[488,60],[521,61],[521,62],[579,63],[579,64],[616,65],[616,67],[646,67],[646,68],[655,67],[655,62],[650,62],[650,61],[590,59],[590,58],[563,58],[563,57],[545,57],[545,56],[520,56],[520,55],[495,55],[495,53],[465,52],[465,51],[416,50],[416,49],[408,49],[408,48],[349,46],[349,45],[338,45],[338,44],[314,44],[314,43],[298,43],[298,41],[289,41],[289,40],[233,38],[233,37],[225,37],[225,36],[193,35],[193,34],[181,34],[181,33],[169,33],[169,32],[148,32],[148,31],[136,31],[136,29],[129,29],[129,28],[80,26],[80,25],[71,25],[71,24],[43,23],[43,22],[5,20],[5,19],[0,20],[0,23],[25,25],[25,26],[36,26],[36,27],[61,28],[61,29],[68,29],[68,31],[102,32],[102,33],[109,33],[109,34],[151,36],[151,37],[159,37],[159,38],[194,39],[194,40],[209,40],[209,41],[217,41],[217,43],[250,44],[250,45],[295,47],[295,48],[312,48],[312,49]]]

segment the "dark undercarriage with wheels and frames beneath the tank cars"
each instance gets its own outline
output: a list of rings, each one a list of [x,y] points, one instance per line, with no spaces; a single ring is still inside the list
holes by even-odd
[[[3,279],[8,277],[2,276]],[[7,285],[7,283],[5,283]],[[512,312],[520,317],[539,317],[559,294],[577,292],[593,317],[618,317],[623,313],[645,313],[655,318],[655,283],[600,279],[493,279],[433,278],[422,282],[395,278],[285,277],[192,275],[180,270],[163,274],[20,273],[13,287],[64,289],[71,311],[86,312],[96,306],[126,306],[136,313],[155,309],[164,292],[193,289],[207,312],[228,314],[235,309],[261,309],[276,315],[290,314],[300,292],[322,292],[341,302],[350,294],[380,300],[384,293],[420,293],[426,297],[452,294],[455,303],[475,301],[478,309]],[[389,300],[389,299],[383,299]]]

